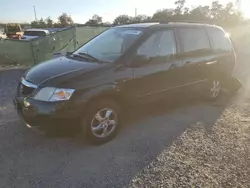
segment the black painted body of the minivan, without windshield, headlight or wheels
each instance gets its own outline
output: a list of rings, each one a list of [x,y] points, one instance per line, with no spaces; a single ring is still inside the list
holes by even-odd
[[[228,43],[228,50],[217,50],[218,44],[216,40],[212,40],[217,34],[211,35],[211,32],[214,32],[210,31],[211,28],[215,33],[224,33],[219,27],[203,24],[153,23],[117,28],[138,30],[141,34],[138,37],[133,36],[136,37],[134,43],[118,58],[117,54],[110,55],[109,59],[115,59],[113,62],[94,62],[67,55],[41,63],[26,72],[23,79],[36,85],[37,89],[33,88],[31,93],[23,95],[22,84],[19,84],[14,101],[19,114],[27,124],[31,127],[48,128],[60,122],[60,128],[61,122],[78,120],[82,112],[88,110],[87,103],[103,96],[108,96],[121,105],[194,97],[206,88],[207,80],[227,79],[232,75],[235,62],[233,47]],[[190,28],[202,32],[204,40],[208,41],[208,49],[195,49],[196,51],[192,52],[185,49],[187,41],[183,39],[181,29]],[[162,52],[159,52],[160,55],[150,57],[145,62],[134,62],[138,49],[157,32],[162,32],[166,38],[173,37],[171,44],[168,44],[173,45],[172,49],[168,49],[170,55],[162,56]],[[137,35],[136,32],[132,34]],[[145,48],[143,50],[145,51]],[[75,89],[75,92],[67,101],[35,100],[34,95],[44,87],[70,88]],[[31,104],[30,107],[24,106],[24,100]],[[70,124],[66,126],[71,128]]]

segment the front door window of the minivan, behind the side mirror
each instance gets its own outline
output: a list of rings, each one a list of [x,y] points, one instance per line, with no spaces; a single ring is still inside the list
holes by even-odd
[[[153,33],[137,50],[137,55],[147,58],[170,57],[174,54],[176,45],[172,30]]]

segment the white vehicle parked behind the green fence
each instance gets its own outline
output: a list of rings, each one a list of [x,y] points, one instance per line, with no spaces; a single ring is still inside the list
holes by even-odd
[[[39,37],[45,37],[51,34],[49,30],[46,29],[27,29],[24,31],[21,40],[32,40]]]

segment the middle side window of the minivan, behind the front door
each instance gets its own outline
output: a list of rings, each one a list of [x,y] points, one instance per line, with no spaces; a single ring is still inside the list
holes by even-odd
[[[180,28],[179,36],[183,52],[210,49],[209,38],[203,28]]]

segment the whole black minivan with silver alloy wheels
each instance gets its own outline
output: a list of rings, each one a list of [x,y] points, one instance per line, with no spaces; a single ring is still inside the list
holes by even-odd
[[[124,105],[201,94],[216,99],[235,63],[229,37],[214,25],[118,26],[28,70],[14,104],[29,128],[77,126],[104,143],[116,135]]]

